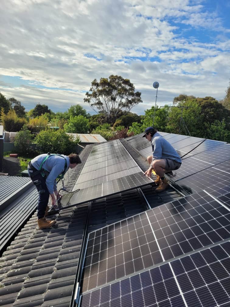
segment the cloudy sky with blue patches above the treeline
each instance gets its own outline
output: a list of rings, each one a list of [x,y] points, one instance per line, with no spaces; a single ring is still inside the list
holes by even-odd
[[[0,7],[0,92],[54,112],[84,103],[96,78],[142,93],[132,112],[180,94],[223,99],[230,78],[226,0],[7,0]]]

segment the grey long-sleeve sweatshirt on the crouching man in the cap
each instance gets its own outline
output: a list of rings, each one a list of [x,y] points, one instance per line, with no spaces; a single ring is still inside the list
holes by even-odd
[[[159,159],[171,159],[181,163],[181,158],[173,148],[173,146],[156,132],[151,138],[152,145],[152,161]]]

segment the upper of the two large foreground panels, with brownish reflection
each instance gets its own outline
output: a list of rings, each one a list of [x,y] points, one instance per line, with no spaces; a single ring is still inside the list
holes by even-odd
[[[94,231],[82,292],[229,239],[229,220],[226,208],[200,192]]]

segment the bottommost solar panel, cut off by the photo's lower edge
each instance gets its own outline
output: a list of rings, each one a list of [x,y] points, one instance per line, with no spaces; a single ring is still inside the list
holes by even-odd
[[[81,296],[81,307],[227,306],[230,243],[132,275]]]

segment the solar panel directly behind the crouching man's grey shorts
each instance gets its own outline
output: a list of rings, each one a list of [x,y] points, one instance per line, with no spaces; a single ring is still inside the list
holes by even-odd
[[[188,157],[182,161],[181,167],[179,169],[172,171],[172,174],[169,174],[168,176],[173,181],[177,181],[212,166],[213,164],[211,163],[199,161],[194,159],[194,157]]]

